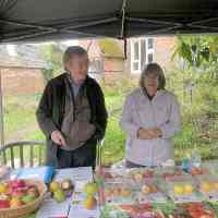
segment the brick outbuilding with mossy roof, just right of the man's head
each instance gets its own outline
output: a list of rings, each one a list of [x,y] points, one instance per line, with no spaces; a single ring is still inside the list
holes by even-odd
[[[111,83],[123,75],[124,53],[121,40],[80,40],[78,45],[88,51],[90,76]]]

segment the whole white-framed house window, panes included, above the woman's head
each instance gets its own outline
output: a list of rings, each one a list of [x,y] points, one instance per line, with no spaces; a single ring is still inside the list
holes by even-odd
[[[154,61],[154,39],[137,38],[131,40],[131,72],[141,73],[145,64]]]

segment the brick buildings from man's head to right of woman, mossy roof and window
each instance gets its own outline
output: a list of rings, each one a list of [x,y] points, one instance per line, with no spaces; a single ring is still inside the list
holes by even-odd
[[[174,36],[130,38],[126,44],[126,60],[122,40],[78,40],[78,45],[88,50],[90,75],[107,83],[122,76],[137,78],[144,65],[149,62],[159,63],[166,73],[175,68],[175,61],[172,61]]]

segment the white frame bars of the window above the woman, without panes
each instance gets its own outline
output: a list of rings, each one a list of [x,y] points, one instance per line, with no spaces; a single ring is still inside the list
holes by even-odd
[[[148,63],[148,55],[153,55],[153,61],[154,61],[154,38],[153,38],[153,48],[148,48],[148,39],[150,37],[138,37],[138,38],[133,38],[131,39],[131,72],[134,73],[134,74],[138,74],[142,72],[143,69],[141,69],[141,56],[142,56],[142,51],[141,51],[141,40],[144,39],[145,40],[145,49],[146,49],[146,57],[145,57],[145,60],[146,60],[146,64]],[[136,60],[134,60],[134,44],[135,43],[138,43],[138,50],[140,50],[140,53],[138,53],[138,69],[137,70],[134,70],[133,68],[133,64],[134,62],[136,62]]]

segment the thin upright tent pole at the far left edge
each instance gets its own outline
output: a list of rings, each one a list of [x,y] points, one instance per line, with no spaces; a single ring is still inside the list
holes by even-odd
[[[1,136],[1,147],[4,147],[4,125],[3,125],[3,94],[2,94],[2,71],[0,69],[0,136]],[[3,149],[3,162],[0,160],[1,164],[7,164],[7,156],[5,150]]]

